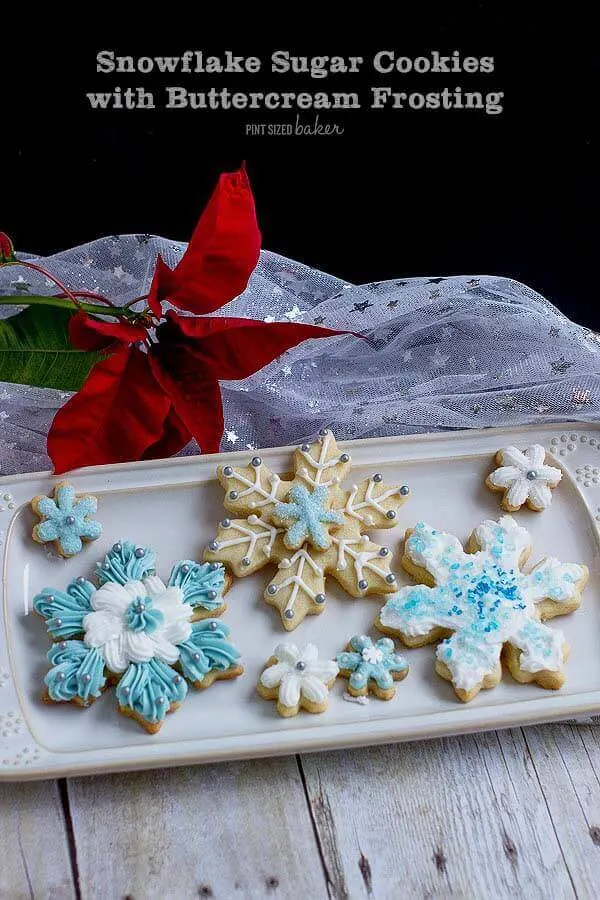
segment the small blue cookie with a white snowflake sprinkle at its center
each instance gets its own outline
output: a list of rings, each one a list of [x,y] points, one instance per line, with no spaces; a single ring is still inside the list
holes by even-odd
[[[369,691],[380,700],[391,700],[395,681],[408,675],[408,663],[395,652],[390,638],[372,641],[366,634],[355,635],[343,653],[338,653],[339,674],[348,679],[348,693],[365,697]]]

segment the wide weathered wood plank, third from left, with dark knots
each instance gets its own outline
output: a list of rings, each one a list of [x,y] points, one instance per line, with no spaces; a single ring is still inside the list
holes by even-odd
[[[575,895],[518,730],[303,756],[302,767],[336,900]]]

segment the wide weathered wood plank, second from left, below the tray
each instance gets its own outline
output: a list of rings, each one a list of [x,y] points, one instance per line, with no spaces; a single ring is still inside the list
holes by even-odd
[[[69,781],[81,896],[327,897],[294,757]]]

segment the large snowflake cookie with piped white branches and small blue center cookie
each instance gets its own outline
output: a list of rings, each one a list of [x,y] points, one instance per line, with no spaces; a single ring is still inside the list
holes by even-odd
[[[217,469],[232,517],[221,521],[204,558],[240,577],[276,564],[264,598],[279,610],[287,631],[323,611],[326,574],[353,597],[396,590],[390,550],[364,531],[393,527],[409,489],[386,487],[376,474],[345,491],[339,485],[349,470],[350,455],[340,452],[328,429],[294,452],[290,480],[271,472],[259,456],[243,468]]]

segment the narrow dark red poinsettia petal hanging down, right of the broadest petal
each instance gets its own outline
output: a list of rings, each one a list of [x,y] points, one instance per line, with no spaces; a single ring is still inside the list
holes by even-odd
[[[217,380],[184,348],[155,344],[149,358],[154,377],[202,453],[218,453],[225,425]]]

